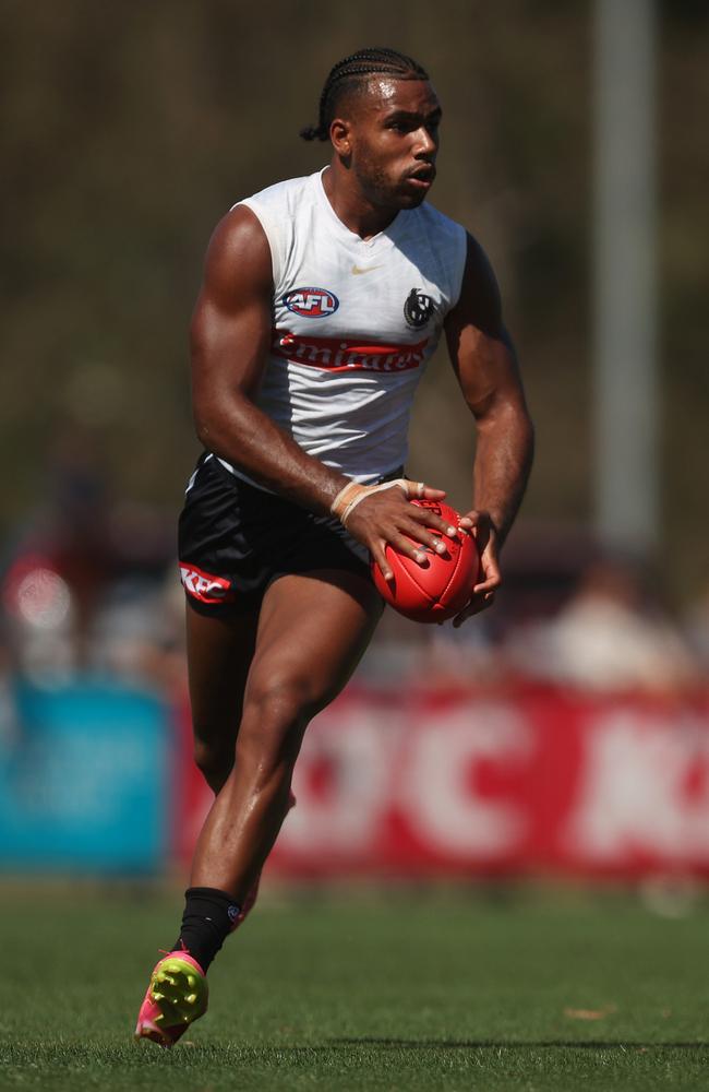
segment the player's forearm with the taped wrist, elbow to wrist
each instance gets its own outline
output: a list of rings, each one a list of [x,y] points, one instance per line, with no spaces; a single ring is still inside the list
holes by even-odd
[[[218,407],[195,405],[194,420],[205,448],[302,508],[328,513],[348,482],[303,451],[245,395]]]

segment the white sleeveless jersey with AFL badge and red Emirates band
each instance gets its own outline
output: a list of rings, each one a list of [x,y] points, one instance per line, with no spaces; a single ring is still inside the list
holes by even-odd
[[[422,204],[364,241],[336,215],[321,173],[240,203],[259,217],[273,261],[257,406],[358,482],[402,466],[413,393],[460,294],[465,229]]]

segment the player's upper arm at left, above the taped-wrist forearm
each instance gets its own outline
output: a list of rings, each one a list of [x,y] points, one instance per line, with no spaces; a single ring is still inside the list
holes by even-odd
[[[190,328],[195,407],[233,391],[252,393],[271,337],[271,251],[244,206],[214,233]]]

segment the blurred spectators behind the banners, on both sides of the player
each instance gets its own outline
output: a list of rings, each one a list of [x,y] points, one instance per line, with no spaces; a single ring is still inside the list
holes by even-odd
[[[48,687],[120,679],[170,697],[184,686],[183,596],[173,519],[118,503],[81,442],[55,452],[47,501],[4,545],[0,675]],[[521,523],[494,609],[459,629],[387,610],[358,678],[504,687],[539,681],[685,695],[709,668],[709,584],[686,614],[661,575],[582,533]]]

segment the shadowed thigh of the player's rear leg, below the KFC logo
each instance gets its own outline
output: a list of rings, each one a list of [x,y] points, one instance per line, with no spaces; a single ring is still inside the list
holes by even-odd
[[[254,653],[259,607],[214,617],[187,603],[187,652],[194,734],[202,743],[233,744]]]

